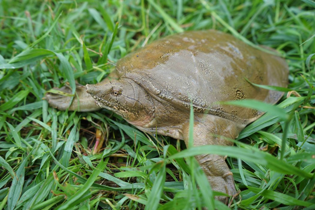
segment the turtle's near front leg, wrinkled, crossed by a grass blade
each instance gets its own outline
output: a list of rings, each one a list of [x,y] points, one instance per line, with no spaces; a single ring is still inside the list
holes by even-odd
[[[235,139],[242,128],[235,122],[224,118],[207,115],[200,121],[194,122],[194,146],[201,145],[233,145],[220,136]],[[184,125],[184,141],[188,147],[189,123]],[[219,137],[218,137],[219,136]],[[230,196],[235,195],[235,184],[233,174],[225,162],[225,158],[216,154],[204,154],[195,156],[196,160],[207,176],[212,190],[226,193]],[[229,198],[216,196],[215,199],[227,203]]]

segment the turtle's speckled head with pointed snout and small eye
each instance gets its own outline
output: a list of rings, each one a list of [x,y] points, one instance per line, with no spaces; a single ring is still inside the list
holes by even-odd
[[[143,126],[154,118],[151,96],[130,79],[87,84],[86,92],[95,99],[98,106],[114,111],[131,124]]]

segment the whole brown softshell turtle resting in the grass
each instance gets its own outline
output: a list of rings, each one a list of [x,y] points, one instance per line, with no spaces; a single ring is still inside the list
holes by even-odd
[[[257,99],[275,104],[281,92],[255,87],[245,78],[263,85],[288,84],[284,59],[215,30],[187,31],[157,40],[119,60],[116,70],[118,80],[87,84],[86,91],[77,86],[80,106],[75,99],[69,110],[105,108],[144,132],[182,139],[186,145],[191,102],[194,145],[232,145],[220,136],[237,138],[263,112],[215,102]],[[65,110],[70,97],[48,94],[46,99]],[[236,193],[224,157],[208,154],[196,159],[213,190]],[[225,201],[226,197],[217,199]]]

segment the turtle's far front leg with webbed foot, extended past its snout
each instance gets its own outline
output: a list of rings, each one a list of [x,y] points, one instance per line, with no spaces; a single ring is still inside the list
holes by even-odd
[[[62,88],[54,88],[61,92],[71,94],[71,88],[68,85],[63,86]],[[59,110],[69,111],[96,111],[101,109],[96,105],[95,99],[88,94],[85,90],[85,86],[77,84],[76,93],[72,103],[70,105],[71,96],[65,96],[54,93],[47,93],[45,99],[48,101],[49,105],[57,108]]]

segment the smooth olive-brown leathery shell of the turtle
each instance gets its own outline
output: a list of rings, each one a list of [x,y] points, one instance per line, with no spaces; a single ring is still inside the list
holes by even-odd
[[[117,70],[178,109],[189,109],[192,101],[195,111],[244,123],[262,113],[215,102],[257,99],[274,104],[281,92],[255,87],[245,78],[279,87],[288,83],[284,59],[215,30],[187,31],[155,41],[118,61]]]

